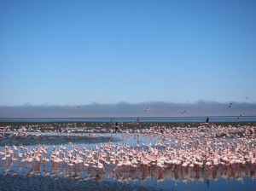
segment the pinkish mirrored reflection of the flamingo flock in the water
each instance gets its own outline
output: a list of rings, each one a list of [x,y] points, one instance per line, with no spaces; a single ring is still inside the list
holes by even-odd
[[[188,182],[203,182],[224,179],[227,181],[243,182],[244,177],[255,179],[256,168],[255,165],[233,165],[223,166],[218,165],[213,168],[198,168],[198,167],[182,167],[181,165],[170,166],[165,170],[156,165],[150,167],[140,165],[137,168],[122,166],[117,171],[113,171],[113,165],[109,165],[102,169],[94,167],[85,167],[84,164],[68,166],[63,163],[19,163],[9,161],[2,161],[0,172],[3,176],[42,176],[60,178],[65,177],[73,180],[117,180],[119,182],[146,182],[148,180],[156,180],[162,182],[166,180]],[[174,168],[173,168],[174,167]]]

